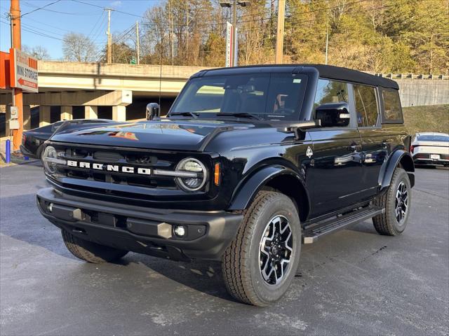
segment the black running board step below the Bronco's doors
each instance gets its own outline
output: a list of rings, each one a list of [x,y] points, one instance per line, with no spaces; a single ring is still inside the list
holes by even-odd
[[[323,237],[330,233],[347,228],[351,224],[366,221],[367,219],[383,214],[384,212],[385,209],[381,209],[379,207],[367,207],[352,211],[350,214],[345,214],[337,218],[321,221],[314,224],[314,228],[304,230],[302,242],[304,244],[314,243],[319,239],[319,237]]]

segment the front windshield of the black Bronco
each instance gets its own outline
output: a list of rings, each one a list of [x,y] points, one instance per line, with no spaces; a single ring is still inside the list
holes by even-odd
[[[245,114],[260,119],[298,120],[307,86],[300,73],[260,73],[192,78],[170,109],[196,116]]]

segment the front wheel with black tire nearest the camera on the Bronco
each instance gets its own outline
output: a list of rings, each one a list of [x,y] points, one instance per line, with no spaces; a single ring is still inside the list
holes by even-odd
[[[274,222],[279,223],[279,227]],[[275,237],[276,229],[274,227],[284,230],[278,236],[281,237],[278,245],[276,245],[277,239],[272,239]],[[267,230],[269,231],[267,232]],[[271,237],[267,237],[268,235]],[[291,237],[291,240],[285,235]],[[262,239],[268,240],[264,240],[264,244],[262,244]],[[287,244],[291,248],[289,251],[286,250]],[[270,260],[274,259],[270,259],[268,254],[265,255],[260,251],[262,245],[267,246],[263,248],[265,252],[270,248],[269,246],[277,246],[277,248],[271,247],[270,253],[276,253],[277,249],[279,253],[277,258],[279,259],[271,262]],[[281,245],[283,246],[279,250]],[[301,225],[295,204],[289,197],[281,193],[274,191],[257,193],[255,200],[244,213],[243,222],[235,239],[222,258],[222,273],[228,292],[236,300],[260,307],[279,300],[293,281],[300,260],[300,251]],[[273,256],[276,258],[276,255],[273,254]],[[290,262],[285,262],[287,258]],[[276,264],[276,262],[279,263]],[[267,275],[268,267],[272,267],[273,269],[270,268],[270,270],[274,270],[274,276],[272,272],[269,272],[272,274],[271,277],[264,279],[261,264],[267,264],[264,266],[264,274]],[[273,265],[281,267],[274,269]],[[285,270],[285,272],[278,272],[278,269]],[[278,283],[279,273],[283,275],[279,278]],[[274,283],[269,283],[269,281],[274,281]]]

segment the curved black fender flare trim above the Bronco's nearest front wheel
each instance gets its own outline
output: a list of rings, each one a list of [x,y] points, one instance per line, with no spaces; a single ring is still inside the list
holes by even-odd
[[[272,179],[282,176],[289,175],[293,176],[305,190],[307,201],[309,201],[309,195],[307,195],[307,190],[304,186],[304,181],[300,174],[297,174],[293,169],[285,167],[283,165],[269,165],[257,170],[254,174],[248,176],[244,179],[239,186],[236,187],[232,195],[231,205],[229,206],[229,211],[239,211],[244,210],[248,205],[253,202],[253,199],[257,192],[266,185]]]

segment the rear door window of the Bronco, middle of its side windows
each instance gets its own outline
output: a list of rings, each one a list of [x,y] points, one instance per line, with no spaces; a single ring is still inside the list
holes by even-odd
[[[375,127],[379,116],[375,87],[356,84],[353,86],[358,127]]]

